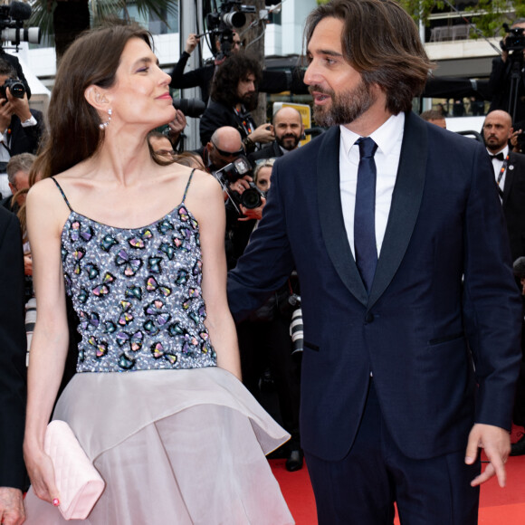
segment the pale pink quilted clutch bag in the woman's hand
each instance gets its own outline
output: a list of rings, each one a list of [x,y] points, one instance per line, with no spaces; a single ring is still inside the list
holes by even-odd
[[[52,460],[64,520],[85,520],[105,483],[65,421],[52,421],[45,431],[45,453]]]

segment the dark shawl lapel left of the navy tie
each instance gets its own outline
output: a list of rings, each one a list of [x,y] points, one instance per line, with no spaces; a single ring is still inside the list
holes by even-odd
[[[339,190],[339,138],[339,126],[329,129],[324,134],[317,159],[320,228],[329,258],[339,277],[358,301],[366,305],[367,291],[350,250],[343,220]]]

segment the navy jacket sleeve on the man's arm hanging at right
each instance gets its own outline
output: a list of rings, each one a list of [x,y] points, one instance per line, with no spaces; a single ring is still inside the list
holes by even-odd
[[[463,315],[478,384],[476,423],[510,428],[521,301],[490,160],[477,148],[464,219]]]

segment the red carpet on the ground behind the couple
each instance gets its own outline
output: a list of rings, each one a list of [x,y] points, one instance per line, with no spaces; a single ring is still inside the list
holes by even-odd
[[[516,441],[514,429],[512,441]],[[284,460],[271,460],[272,471],[281,485],[297,525],[317,525],[315,501],[306,467],[287,472]],[[396,519],[396,525],[399,520]],[[479,525],[525,524],[525,455],[509,458],[507,487],[501,489],[495,478],[482,485]]]

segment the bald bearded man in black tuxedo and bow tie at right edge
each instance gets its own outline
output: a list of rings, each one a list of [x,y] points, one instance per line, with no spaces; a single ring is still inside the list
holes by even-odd
[[[483,138],[503,205],[512,261],[516,261],[525,255],[525,155],[509,148],[512,132],[512,119],[507,111],[494,110],[485,118]]]

